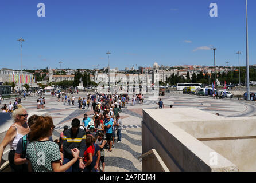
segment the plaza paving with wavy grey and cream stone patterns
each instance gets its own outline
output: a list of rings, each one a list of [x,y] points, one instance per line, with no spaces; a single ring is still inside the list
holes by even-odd
[[[37,109],[36,100],[38,96],[22,98],[21,104],[28,110],[29,115],[43,114],[52,116],[53,123],[56,126],[55,132],[53,132],[53,140],[55,140],[59,138],[64,125],[71,127],[73,118],[78,118],[82,121],[84,113],[87,113],[90,118],[93,116],[91,105],[88,110],[78,109],[77,99],[79,96],[86,96],[86,93],[79,93],[74,96],[76,97],[74,106],[68,105],[68,102],[58,102],[57,98],[52,96],[45,96],[46,104],[44,109]],[[219,113],[223,117],[256,115],[256,102],[238,100],[237,98],[222,100],[205,96],[167,93],[166,96],[146,96],[143,104],[136,104],[135,106],[132,106],[131,101],[129,101],[125,108],[122,108],[122,113],[120,113],[123,121],[122,142],[115,143],[113,151],[105,153],[107,172],[142,171],[142,162],[137,158],[142,152],[142,110],[144,108],[157,108],[158,105],[156,103],[159,101],[159,98],[164,102],[165,108],[170,108],[172,104],[173,108],[197,108],[209,113]],[[13,100],[11,101],[13,102]],[[2,101],[2,105],[4,103],[8,105],[9,100]],[[1,134],[1,136],[3,135]],[[2,141],[2,137],[0,139]],[[7,147],[9,148],[9,146]],[[8,148],[6,148],[5,152],[9,150]]]

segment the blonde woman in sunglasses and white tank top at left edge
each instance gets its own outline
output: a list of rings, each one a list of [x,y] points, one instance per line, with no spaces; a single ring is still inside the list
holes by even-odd
[[[12,124],[7,130],[5,138],[3,138],[3,141],[0,144],[0,162],[3,156],[3,151],[8,144],[10,145],[11,150],[8,154],[8,160],[10,162],[10,167],[13,172],[23,171],[22,165],[14,164],[14,154],[20,138],[30,132],[29,126],[26,123],[26,121],[28,121],[27,118],[28,113],[26,112],[26,109],[23,108],[21,105],[18,105],[18,109],[13,111],[14,124]]]

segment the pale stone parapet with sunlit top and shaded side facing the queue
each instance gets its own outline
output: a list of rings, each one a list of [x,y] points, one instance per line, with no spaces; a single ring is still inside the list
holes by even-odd
[[[196,110],[196,111],[195,111]],[[197,114],[196,114],[197,113]],[[191,134],[174,124],[199,121],[205,113],[198,109],[143,109],[142,154],[156,149],[170,171],[237,171],[238,168],[218,152],[218,164],[211,164],[215,152]],[[219,116],[211,114],[215,120]],[[150,171],[150,163],[142,161],[142,170]]]

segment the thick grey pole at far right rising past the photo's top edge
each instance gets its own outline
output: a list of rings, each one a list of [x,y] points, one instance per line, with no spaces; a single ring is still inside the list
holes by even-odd
[[[250,100],[250,85],[249,85],[249,46],[248,46],[248,15],[247,15],[247,0],[246,3],[246,87],[247,101]]]

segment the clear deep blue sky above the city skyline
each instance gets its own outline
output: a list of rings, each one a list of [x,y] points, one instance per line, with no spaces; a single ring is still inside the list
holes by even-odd
[[[38,17],[38,3],[45,17]],[[210,17],[211,3],[218,17]],[[249,64],[256,64],[256,1],[248,0]],[[246,66],[245,0],[1,0],[0,68],[137,65]]]

